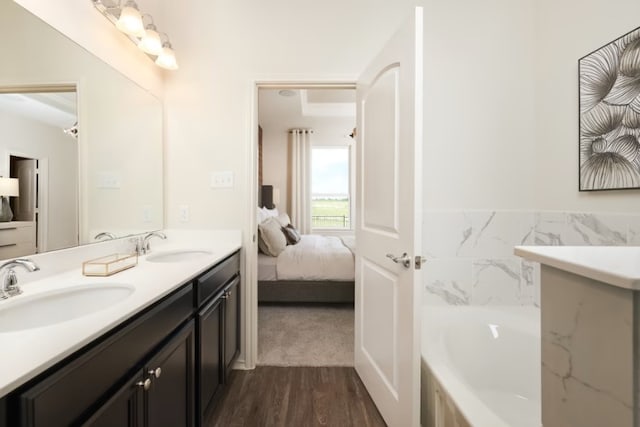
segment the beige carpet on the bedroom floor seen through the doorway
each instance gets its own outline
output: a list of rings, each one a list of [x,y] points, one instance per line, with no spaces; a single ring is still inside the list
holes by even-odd
[[[353,366],[353,306],[258,306],[258,365]]]

